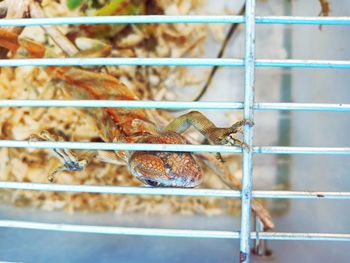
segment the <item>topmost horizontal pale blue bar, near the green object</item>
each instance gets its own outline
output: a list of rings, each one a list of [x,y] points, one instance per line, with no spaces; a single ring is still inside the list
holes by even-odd
[[[350,17],[256,16],[258,24],[349,25]],[[43,26],[75,24],[146,24],[146,23],[245,23],[243,16],[85,16],[30,19],[1,19],[0,26]]]

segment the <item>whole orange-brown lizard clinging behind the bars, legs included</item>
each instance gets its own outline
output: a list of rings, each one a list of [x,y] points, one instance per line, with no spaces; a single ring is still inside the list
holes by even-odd
[[[0,47],[11,51],[13,56],[27,55],[29,57],[44,57],[45,47],[29,39],[19,39],[13,32],[0,29]],[[94,52],[94,51],[93,51]],[[69,54],[70,56],[79,54]],[[47,67],[52,81],[62,88],[67,97],[74,99],[110,99],[137,100],[137,96],[117,78],[100,72],[92,72],[77,67]],[[157,144],[186,144],[187,140],[181,134],[190,127],[204,135],[210,144],[229,144],[247,147],[235,138],[242,132],[244,125],[252,125],[249,120],[241,120],[231,127],[219,128],[205,115],[191,111],[172,120],[163,129],[158,129],[152,122],[145,109],[99,108],[85,109],[93,117],[102,140],[106,142],[123,143],[157,143]],[[43,132],[34,136],[37,140],[57,140],[59,138]],[[80,153],[67,149],[54,149],[63,165],[50,175],[62,170],[83,170],[96,157],[91,151]],[[153,187],[184,187],[191,188],[200,185],[203,172],[188,152],[159,152],[159,151],[116,151],[115,156],[125,162],[131,174],[142,183]],[[232,188],[232,185],[230,185]],[[240,184],[236,185],[240,188]],[[269,213],[262,205],[253,200],[252,209],[265,225],[265,229],[274,227]]]

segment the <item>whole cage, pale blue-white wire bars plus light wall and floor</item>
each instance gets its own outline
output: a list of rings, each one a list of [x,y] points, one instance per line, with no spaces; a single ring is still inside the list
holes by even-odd
[[[222,2],[225,6],[224,1]],[[244,16],[65,17],[0,21],[0,26],[145,22],[244,24],[244,32],[235,39],[234,48],[230,47],[232,50],[226,52],[228,57],[244,59],[11,59],[1,60],[0,65],[2,67],[68,64],[93,66],[111,63],[229,66],[217,73],[203,102],[171,104],[132,101],[125,106],[215,109],[213,113],[209,113],[214,117],[217,116],[218,109],[243,109],[246,119],[251,119],[253,113],[255,115],[255,125],[245,129],[245,141],[248,145],[254,145],[254,148],[252,152],[242,153],[242,192],[0,182],[1,188],[38,191],[242,198],[241,218],[227,215],[216,217],[198,215],[160,217],[111,213],[67,215],[65,212],[45,212],[3,205],[0,210],[2,227],[0,260],[236,262],[239,257],[242,262],[348,260],[350,255],[346,241],[350,241],[350,234],[348,234],[346,208],[350,194],[346,186],[348,181],[346,175],[349,168],[350,141],[346,128],[349,125],[350,93],[346,89],[349,80],[346,73],[350,68],[347,49],[350,3],[345,0],[330,1],[330,17],[308,17],[319,12],[318,1],[269,0],[255,3],[254,0],[246,0],[230,3],[228,6],[238,10],[244,2],[246,5]],[[216,6],[217,1],[208,3],[209,10],[215,9]],[[319,25],[322,25],[322,28],[319,28]],[[231,100],[210,102],[220,100],[220,96],[216,95],[222,93],[220,89],[222,86],[225,87],[224,96],[230,94],[236,98],[234,102]],[[64,103],[67,102],[1,100],[0,105],[61,107]],[[79,107],[89,102],[68,103],[66,105]],[[94,103],[95,107],[103,106],[98,105],[96,101]],[[115,105],[120,107],[121,103],[117,101]],[[254,130],[254,140],[251,129]],[[52,148],[57,145],[59,143],[29,144],[27,141],[0,141],[1,147]],[[150,149],[147,148],[149,145],[125,146],[111,143],[83,145],[69,142],[62,144],[61,147]],[[164,145],[154,145],[152,150],[159,150],[160,147]],[[188,151],[242,152],[239,148],[224,146],[180,147],[181,150],[188,149]],[[165,149],[179,150],[171,145]],[[251,192],[251,180],[254,180],[254,189],[259,190]],[[250,223],[254,221],[250,214],[252,197],[269,199],[268,207],[276,224],[273,232],[253,230]],[[250,249],[254,248],[255,239],[260,240],[260,243],[255,243],[258,245],[265,245],[261,240],[268,240],[268,248],[273,254],[265,257],[249,255]]]

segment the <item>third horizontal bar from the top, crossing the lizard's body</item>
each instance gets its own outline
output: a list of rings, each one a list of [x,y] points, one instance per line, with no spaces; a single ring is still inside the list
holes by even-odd
[[[243,102],[142,101],[142,100],[0,100],[0,107],[78,107],[78,108],[156,108],[156,109],[243,109]],[[302,110],[349,112],[350,104],[266,103],[254,104],[254,110]]]

